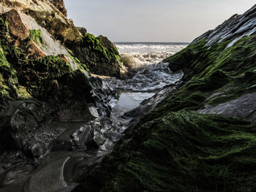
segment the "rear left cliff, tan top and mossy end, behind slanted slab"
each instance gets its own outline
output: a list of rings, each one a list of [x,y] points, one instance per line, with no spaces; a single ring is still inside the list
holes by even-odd
[[[77,28],[72,20],[67,19],[67,10],[62,0],[1,0],[0,12],[9,12],[15,9],[22,15],[29,16],[29,20],[34,19],[37,26],[29,26],[38,29],[39,26],[61,45],[69,49],[69,54],[89,67],[95,74],[120,76],[121,58],[116,50],[116,46],[107,38],[95,38],[87,34],[86,30]],[[23,17],[24,18],[24,17]],[[23,20],[26,25],[26,20]],[[17,23],[17,22],[15,22]],[[27,24],[30,25],[30,24]],[[16,28],[12,28],[14,31]],[[40,30],[40,29],[38,29]],[[47,42],[47,39],[45,39]],[[104,45],[111,45],[111,47]],[[71,50],[71,52],[70,52]]]

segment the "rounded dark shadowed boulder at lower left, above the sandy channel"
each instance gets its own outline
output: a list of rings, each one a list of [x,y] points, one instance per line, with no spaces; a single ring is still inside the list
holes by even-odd
[[[46,104],[36,101],[17,101],[10,104],[7,115],[1,117],[1,148],[36,153],[38,147],[45,153],[47,147],[39,142],[52,140],[50,133],[42,134],[43,121],[50,115]],[[36,156],[37,156],[36,155]]]

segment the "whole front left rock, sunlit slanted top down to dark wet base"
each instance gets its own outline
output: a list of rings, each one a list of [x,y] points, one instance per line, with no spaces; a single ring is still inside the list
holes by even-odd
[[[21,190],[27,175],[51,150],[98,147],[101,124],[85,127],[84,122],[108,120],[112,95],[108,83],[91,77],[87,66],[34,18],[20,9],[4,9],[0,15],[0,191]]]

